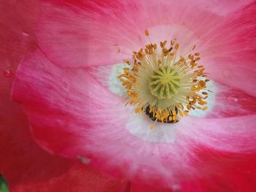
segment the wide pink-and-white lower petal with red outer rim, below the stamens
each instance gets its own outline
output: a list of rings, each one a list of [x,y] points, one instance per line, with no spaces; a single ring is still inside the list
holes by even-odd
[[[203,180],[214,161],[202,161],[202,150],[256,152],[256,115],[187,117],[162,127],[176,131],[175,142],[161,142],[166,135],[159,135],[159,142],[140,138],[132,131],[149,133],[148,118],[124,107],[85,70],[58,68],[39,50],[20,64],[13,96],[23,103],[35,139],[51,153],[89,158],[103,172],[148,185],[171,188],[191,178]]]

